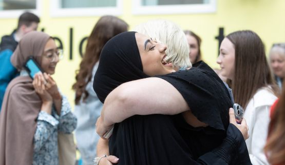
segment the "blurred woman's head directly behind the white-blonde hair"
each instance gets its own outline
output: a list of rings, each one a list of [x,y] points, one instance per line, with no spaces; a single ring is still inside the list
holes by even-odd
[[[199,60],[202,60],[200,49],[202,39],[191,30],[184,30],[184,33],[186,35],[187,42],[190,48],[189,58],[191,60],[191,63],[197,63]]]

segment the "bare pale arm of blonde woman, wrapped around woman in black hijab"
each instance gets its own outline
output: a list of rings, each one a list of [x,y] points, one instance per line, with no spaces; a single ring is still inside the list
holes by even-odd
[[[106,125],[133,115],[174,115],[189,110],[183,96],[161,78],[145,78],[125,83],[106,98],[102,118]]]

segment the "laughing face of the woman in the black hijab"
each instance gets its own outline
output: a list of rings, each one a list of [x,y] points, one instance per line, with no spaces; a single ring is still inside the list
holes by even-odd
[[[135,35],[145,74],[155,76],[174,71],[172,64],[165,62],[165,45],[153,41],[144,34],[136,33]]]

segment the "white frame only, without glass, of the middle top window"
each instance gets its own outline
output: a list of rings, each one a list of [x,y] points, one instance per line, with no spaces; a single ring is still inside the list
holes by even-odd
[[[95,7],[95,8],[68,8],[60,7],[61,0],[51,0],[50,15],[51,17],[65,16],[102,16],[102,15],[121,15],[122,0],[117,0],[116,7]],[[102,0],[104,1],[104,0]]]

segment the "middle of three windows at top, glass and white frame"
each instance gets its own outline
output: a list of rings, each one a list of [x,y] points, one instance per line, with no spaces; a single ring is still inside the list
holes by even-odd
[[[119,15],[122,0],[51,0],[51,16]]]

